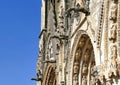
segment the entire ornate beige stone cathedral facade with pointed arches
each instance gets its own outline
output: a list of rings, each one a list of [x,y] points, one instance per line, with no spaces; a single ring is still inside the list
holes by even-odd
[[[120,0],[42,0],[37,85],[120,85]]]

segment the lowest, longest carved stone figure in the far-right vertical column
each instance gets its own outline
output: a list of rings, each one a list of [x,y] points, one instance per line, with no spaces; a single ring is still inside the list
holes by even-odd
[[[111,53],[110,53],[110,72],[109,72],[109,76],[112,76],[112,74],[114,73],[114,75],[116,76],[117,73],[117,62],[116,62],[116,58],[117,58],[117,47],[116,45],[111,45],[110,47],[111,49]]]

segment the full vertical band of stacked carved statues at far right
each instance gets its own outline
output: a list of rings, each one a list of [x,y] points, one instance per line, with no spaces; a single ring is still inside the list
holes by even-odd
[[[108,77],[117,76],[117,46],[116,46],[116,37],[117,37],[117,9],[118,9],[118,0],[111,0],[109,6],[109,54],[108,54]]]

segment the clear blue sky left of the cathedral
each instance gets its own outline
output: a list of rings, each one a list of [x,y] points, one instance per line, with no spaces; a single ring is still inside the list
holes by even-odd
[[[36,85],[41,0],[0,0],[0,85]]]

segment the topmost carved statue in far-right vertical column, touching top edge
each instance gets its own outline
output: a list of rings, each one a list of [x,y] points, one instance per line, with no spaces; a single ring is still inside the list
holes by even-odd
[[[113,23],[116,22],[117,19],[117,0],[112,0],[111,6],[110,6],[110,20],[113,21]]]

